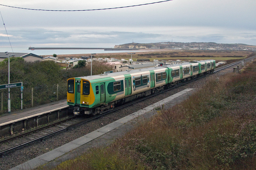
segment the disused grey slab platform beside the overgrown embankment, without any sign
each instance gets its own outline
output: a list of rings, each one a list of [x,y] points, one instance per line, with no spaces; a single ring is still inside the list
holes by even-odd
[[[155,115],[158,111],[155,110],[157,107],[164,106],[165,109],[167,109],[180,103],[192,94],[193,91],[194,89],[191,88],[182,90],[170,97],[158,101],[155,104],[145,107],[144,109],[134,112],[89,134],[46,152],[43,155],[11,168],[10,170],[28,170],[42,165],[47,168],[54,168],[63,161],[82,155],[90,148],[107,146],[115,141],[116,138],[123,136],[127,131],[131,130],[135,124],[138,123],[138,119],[147,119]]]

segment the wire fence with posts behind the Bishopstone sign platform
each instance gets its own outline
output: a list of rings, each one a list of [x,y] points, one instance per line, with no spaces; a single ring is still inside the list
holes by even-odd
[[[1,113],[8,111],[8,89],[0,90],[1,94]],[[66,83],[54,84],[52,86],[41,86],[28,89],[24,87],[23,109],[50,103],[57,100],[66,99],[67,85]],[[21,109],[21,90],[19,87],[10,88],[11,110]]]

